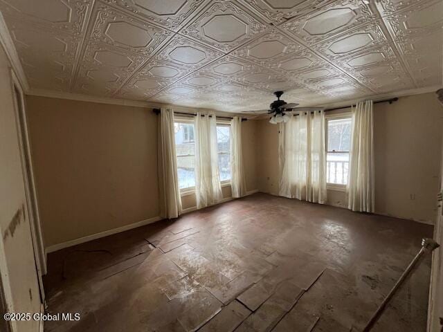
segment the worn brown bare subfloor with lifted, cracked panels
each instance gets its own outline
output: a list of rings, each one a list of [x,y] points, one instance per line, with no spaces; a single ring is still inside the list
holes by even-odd
[[[254,194],[54,252],[46,331],[360,331],[432,227]],[[374,331],[425,331],[430,259]]]

